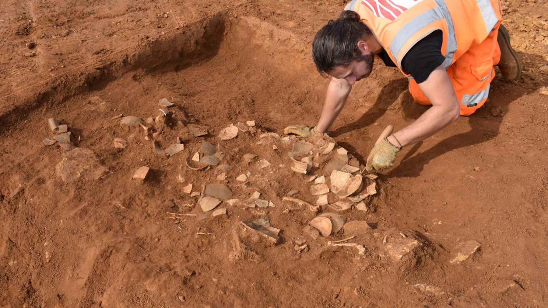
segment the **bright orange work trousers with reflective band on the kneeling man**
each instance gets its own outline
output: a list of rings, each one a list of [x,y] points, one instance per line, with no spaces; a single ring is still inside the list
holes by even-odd
[[[495,5],[499,0],[492,0]],[[495,7],[495,6],[493,6]],[[470,115],[487,101],[491,81],[495,78],[495,65],[500,61],[500,48],[496,41],[499,33],[501,15],[499,7],[495,13],[499,22],[483,42],[473,45],[447,68],[447,74],[455,89],[460,104],[460,115]],[[409,92],[415,102],[423,105],[432,103],[420,90],[415,79],[409,79]]]

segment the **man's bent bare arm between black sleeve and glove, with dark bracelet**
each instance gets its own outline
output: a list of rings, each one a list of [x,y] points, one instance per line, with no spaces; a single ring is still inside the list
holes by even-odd
[[[403,147],[432,136],[456,121],[460,115],[459,101],[443,65],[434,69],[428,79],[419,84],[419,88],[432,102],[432,107],[412,124],[394,133]],[[390,136],[388,140],[399,146],[393,136]]]

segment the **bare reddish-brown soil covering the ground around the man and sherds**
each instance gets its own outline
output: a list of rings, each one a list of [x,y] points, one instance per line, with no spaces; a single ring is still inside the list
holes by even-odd
[[[379,176],[369,211],[344,212],[373,227],[356,238],[367,247],[358,255],[327,245],[349,236],[344,231],[317,240],[304,235],[316,213],[282,201],[292,189],[314,201],[308,177],[289,169],[289,145],[273,150],[246,133],[215,137],[252,119],[277,133],[316,123],[327,80],[313,67],[310,44],[344,2],[5,1],[0,96],[123,51],[0,101],[0,304],[545,306],[548,96],[539,89],[548,84],[540,70],[548,60],[548,41],[540,39],[548,36],[548,7],[536,2],[503,3],[524,77],[495,78],[478,112],[398,154],[397,165]],[[207,18],[194,21],[201,16]],[[29,42],[36,47],[28,49]],[[169,159],[152,153],[142,129],[111,120],[119,113],[156,117],[163,97],[176,103],[170,110],[186,125],[159,135],[163,148],[176,137],[185,144]],[[396,69],[376,63],[354,87],[332,137],[363,164],[386,125],[403,127],[426,108],[412,101]],[[106,170],[99,179],[85,173],[62,181],[56,165],[65,154],[42,143],[53,137],[48,118],[67,124],[75,145],[95,153],[95,167]],[[189,125],[210,134],[192,137]],[[115,137],[129,146],[113,148]],[[258,190],[276,207],[224,204],[225,217],[169,219],[166,212],[201,213],[185,185],[199,191],[218,182],[216,168],[185,165],[201,140],[224,148],[232,166],[226,181],[237,197]],[[248,166],[245,153],[272,166]],[[140,166],[152,170],[143,184],[131,180]],[[237,186],[235,178],[248,170],[250,183]],[[277,245],[240,223],[261,217],[282,229]],[[297,239],[306,239],[309,251],[296,252]],[[409,239],[421,247],[392,260],[389,246]],[[469,240],[481,243],[479,251],[450,263]]]

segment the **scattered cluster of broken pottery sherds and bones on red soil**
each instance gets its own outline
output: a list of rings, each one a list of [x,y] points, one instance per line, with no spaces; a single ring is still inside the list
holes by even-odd
[[[141,119],[132,115],[124,117],[123,114],[119,114],[112,120],[117,120],[118,125],[126,127],[128,132],[133,130],[133,135],[128,133],[128,136],[131,138],[139,136],[136,143],[141,146],[146,144],[140,142],[151,144],[153,155],[165,159],[178,153],[186,155],[181,162],[184,163],[182,168],[186,167],[187,172],[191,173],[189,181],[181,175],[177,177],[177,180],[184,185],[182,186],[183,194],[196,198],[192,199],[191,204],[185,205],[189,212],[199,206],[201,213],[167,212],[169,219],[178,223],[187,217],[195,217],[197,220],[218,216],[227,217],[230,207],[267,209],[281,205],[284,207],[282,213],[286,214],[296,210],[310,210],[316,216],[302,229],[303,236],[316,240],[319,236],[340,235],[340,231],[344,230],[345,236],[350,235],[349,237],[328,241],[327,245],[356,248],[358,255],[365,254],[366,247],[362,243],[347,241],[352,239],[359,241],[360,236],[368,233],[371,227],[364,220],[351,220],[347,219],[347,216],[351,215],[352,210],[368,211],[370,197],[377,194],[375,182],[377,176],[367,173],[365,167],[359,164],[356,158],[353,158],[346,149],[338,146],[328,135],[317,134],[310,138],[281,136],[274,132],[262,131],[252,120],[230,124],[220,130],[216,136],[212,136],[207,126],[176,118],[172,111],[167,110],[174,104],[166,98],[160,100],[158,104],[162,108],[159,109],[155,118]],[[182,113],[183,117],[186,117],[186,114]],[[62,164],[58,166],[58,172],[65,181],[72,181],[84,171],[89,173],[92,179],[98,179],[104,175],[105,168],[100,164],[94,162],[95,165],[92,168],[90,164],[79,159],[89,158],[88,161],[95,161],[95,155],[91,150],[76,148],[74,149],[76,152],[72,153],[71,149],[74,146],[70,140],[71,131],[68,130],[67,125],[60,124],[53,118],[48,120],[48,124],[57,135],[53,137],[53,140],[45,139],[44,143],[51,145],[58,142],[63,150],[70,151],[70,154],[65,155],[66,158]],[[168,134],[168,131],[175,132],[176,135]],[[227,142],[235,140],[242,133],[247,135],[247,146],[249,142],[254,143],[253,148],[256,149],[256,153],[240,154],[239,148],[229,148],[231,143]],[[114,148],[124,150],[128,147],[128,140],[123,137],[113,138]],[[203,139],[196,141],[199,137],[208,138],[210,142]],[[166,142],[168,138],[171,142]],[[161,144],[169,144],[169,146],[162,148]],[[266,151],[275,155],[267,156]],[[272,162],[267,160],[272,157],[276,160]],[[247,171],[232,172],[233,168],[238,167],[239,170]],[[287,193],[266,191],[266,194],[255,188],[257,182],[269,181],[272,172],[276,172],[279,168],[292,170],[294,176],[301,179],[298,181],[299,187]],[[88,169],[98,170],[98,172],[90,173]],[[144,184],[150,177],[151,171],[153,170],[149,166],[141,166],[134,171],[133,180]],[[201,177],[196,178],[207,175],[206,178],[215,180],[197,184],[193,181],[195,178],[193,174],[197,174],[195,172],[203,172]],[[305,185],[303,186],[302,183]],[[201,189],[198,190],[197,186]],[[258,213],[260,216],[265,215],[265,212]],[[241,224],[272,243],[278,243],[280,240],[281,230],[273,227],[268,217],[244,220]],[[409,259],[410,254],[429,254],[423,249],[427,243],[412,234],[407,236],[399,233],[387,243],[388,236],[384,236],[383,244],[387,249],[387,256],[393,260]],[[303,253],[309,250],[306,240],[296,239],[293,242],[296,252]],[[467,243],[464,248],[466,253],[454,257],[451,263],[458,263],[467,255],[475,253],[479,249],[479,243]]]

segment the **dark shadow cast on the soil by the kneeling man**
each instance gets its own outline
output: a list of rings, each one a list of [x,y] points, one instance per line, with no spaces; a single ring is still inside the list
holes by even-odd
[[[532,54],[518,53],[522,62],[529,60],[532,63],[542,63],[544,60],[541,56]],[[489,101],[479,108],[474,114],[469,117],[461,117],[459,120],[467,120],[471,126],[471,130],[459,133],[438,142],[435,146],[419,152],[423,142],[414,144],[403,157],[402,161],[387,173],[387,177],[418,177],[423,171],[424,166],[435,159],[437,156],[449,152],[450,150],[472,146],[473,144],[482,143],[491,140],[499,135],[500,125],[504,115],[508,112],[509,105],[517,98],[530,94],[535,91],[535,87],[527,87],[527,82],[523,80],[518,84],[513,84],[504,80],[500,73],[491,83],[489,92]],[[394,89],[401,89],[394,91]],[[386,84],[376,98],[375,104],[358,120],[353,123],[346,124],[333,133],[333,136],[339,136],[346,132],[361,129],[374,124],[382,117],[386,110],[402,95],[402,92],[407,90],[407,79],[397,79]],[[506,90],[506,91],[503,91]],[[426,111],[428,107],[420,106],[413,101],[413,97],[406,92],[402,97],[402,112],[403,116],[408,119],[417,119]],[[344,146],[344,144],[343,144]],[[351,148],[350,145],[345,147]],[[418,153],[418,154],[416,154]],[[363,162],[367,159],[367,153],[363,153],[364,157],[358,157]],[[415,155],[416,154],[416,155]]]

